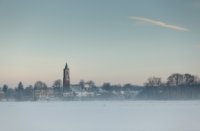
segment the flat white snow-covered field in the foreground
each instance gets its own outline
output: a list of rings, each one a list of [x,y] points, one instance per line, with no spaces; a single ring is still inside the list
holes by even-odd
[[[1,131],[200,131],[200,101],[0,102]]]

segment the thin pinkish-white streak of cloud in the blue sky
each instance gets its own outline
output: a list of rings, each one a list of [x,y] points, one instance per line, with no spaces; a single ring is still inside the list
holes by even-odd
[[[149,18],[145,18],[145,17],[129,17],[132,20],[136,20],[139,23],[143,23],[143,24],[152,24],[152,25],[156,25],[159,27],[163,27],[163,28],[169,28],[172,30],[176,30],[176,31],[189,31],[187,28],[181,27],[181,26],[176,26],[176,25],[171,25],[171,24],[167,24],[165,22],[162,21],[157,21],[157,20],[152,20]]]

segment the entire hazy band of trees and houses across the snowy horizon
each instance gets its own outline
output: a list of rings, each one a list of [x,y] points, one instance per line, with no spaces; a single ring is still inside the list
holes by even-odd
[[[32,86],[24,87],[19,82],[16,88],[6,84],[0,87],[0,100],[3,101],[36,101],[36,100],[93,100],[93,99],[200,99],[200,80],[191,74],[171,74],[166,82],[160,77],[150,77],[144,86],[132,84],[112,85],[104,83],[96,86],[93,81],[81,80],[71,85],[71,91],[63,92],[62,81],[55,80],[51,87],[37,81]]]

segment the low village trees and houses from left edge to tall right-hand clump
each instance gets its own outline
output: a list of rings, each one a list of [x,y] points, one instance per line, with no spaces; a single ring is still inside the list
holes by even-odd
[[[17,87],[10,88],[6,84],[0,87],[0,100],[2,101],[37,101],[37,100],[92,100],[92,99],[123,99],[126,94],[134,96],[133,92],[143,89],[141,86],[131,84],[112,85],[104,83],[96,86],[93,81],[81,80],[76,85],[71,85],[71,91],[63,92],[62,81],[55,80],[51,87],[46,83],[37,81],[27,87],[19,82]]]

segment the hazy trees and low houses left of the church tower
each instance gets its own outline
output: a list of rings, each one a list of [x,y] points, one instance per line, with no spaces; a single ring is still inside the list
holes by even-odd
[[[19,82],[16,88],[10,88],[4,84],[3,87],[0,88],[0,99],[16,101],[37,100],[40,96],[50,95],[50,92],[54,93],[55,96],[57,94],[61,95],[61,84],[61,80],[56,80],[52,87],[47,87],[42,81],[37,81],[34,86],[29,85],[27,87],[24,87],[23,83]]]

